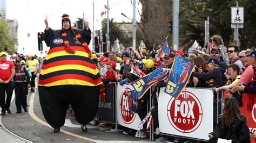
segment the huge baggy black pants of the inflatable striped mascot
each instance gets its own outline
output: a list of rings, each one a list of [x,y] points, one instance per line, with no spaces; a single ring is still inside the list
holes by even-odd
[[[69,105],[75,111],[76,120],[80,124],[89,123],[98,110],[99,85],[39,86],[38,91],[44,117],[52,127],[64,125]]]

